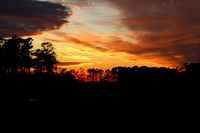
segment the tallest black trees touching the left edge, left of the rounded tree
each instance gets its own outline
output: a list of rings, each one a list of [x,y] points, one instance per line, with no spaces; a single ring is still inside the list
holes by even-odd
[[[30,72],[32,38],[22,39],[17,35],[10,39],[0,38],[1,71],[17,73]]]

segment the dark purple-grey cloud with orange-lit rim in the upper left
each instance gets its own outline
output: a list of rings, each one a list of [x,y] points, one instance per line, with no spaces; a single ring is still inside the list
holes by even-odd
[[[58,30],[68,23],[70,9],[38,0],[0,0],[0,36],[30,36]]]

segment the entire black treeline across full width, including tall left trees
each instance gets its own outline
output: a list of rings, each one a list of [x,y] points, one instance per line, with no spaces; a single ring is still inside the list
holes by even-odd
[[[184,64],[182,68],[165,67],[115,67],[112,69],[91,68],[85,71],[67,70],[57,67],[58,60],[50,42],[41,44],[40,49],[32,50],[33,39],[23,39],[14,35],[0,38],[0,80],[66,80],[74,82],[174,82],[197,80],[200,63]]]

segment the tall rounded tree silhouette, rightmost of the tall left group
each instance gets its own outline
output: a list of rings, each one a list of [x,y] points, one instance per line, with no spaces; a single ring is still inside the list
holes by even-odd
[[[53,44],[44,42],[41,46],[41,49],[37,49],[32,53],[34,56],[33,67],[38,74],[43,72],[52,73],[57,68],[56,64],[58,63]]]

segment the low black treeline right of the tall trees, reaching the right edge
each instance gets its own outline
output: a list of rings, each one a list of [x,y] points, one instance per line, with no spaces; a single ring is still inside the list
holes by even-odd
[[[184,64],[180,68],[166,67],[114,67],[112,69],[95,69],[90,68],[87,74],[83,68],[79,71],[62,69],[59,72],[62,76],[73,75],[77,81],[99,82],[99,81],[119,81],[121,83],[174,83],[177,81],[196,81],[199,80],[200,62]]]

